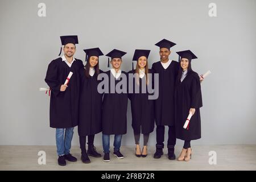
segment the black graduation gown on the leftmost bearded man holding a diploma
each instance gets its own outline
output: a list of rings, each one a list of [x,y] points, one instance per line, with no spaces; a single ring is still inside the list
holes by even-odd
[[[82,61],[76,59],[71,68],[61,59],[52,60],[48,65],[45,81],[51,88],[49,107],[50,127],[75,127],[79,116],[79,70],[84,67]],[[64,84],[69,72],[73,72],[64,92],[60,86]]]

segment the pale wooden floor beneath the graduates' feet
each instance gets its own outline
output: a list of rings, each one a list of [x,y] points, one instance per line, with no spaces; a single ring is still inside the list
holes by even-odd
[[[96,148],[102,151],[101,146]],[[181,148],[176,146],[176,156]],[[0,146],[0,170],[256,170],[256,145],[193,146],[192,150],[191,161],[178,162],[168,160],[166,148],[162,158],[154,159],[154,146],[148,147],[146,158],[134,155],[135,146],[122,146],[124,159],[117,159],[111,153],[108,163],[103,158],[90,157],[91,163],[84,164],[80,160],[80,148],[73,146],[71,153],[78,161],[67,162],[62,167],[57,164],[56,146]],[[46,152],[45,165],[38,164],[39,151]],[[216,152],[217,164],[209,164],[209,151]]]

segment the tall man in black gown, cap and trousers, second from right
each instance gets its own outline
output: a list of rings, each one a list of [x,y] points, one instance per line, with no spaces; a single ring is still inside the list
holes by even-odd
[[[176,144],[174,126],[174,88],[179,63],[169,59],[170,48],[176,44],[163,39],[155,44],[160,47],[160,61],[152,64],[154,73],[159,74],[159,97],[155,100],[155,123],[156,123],[156,152],[155,159],[163,155],[164,126],[168,126],[168,159],[174,160],[174,147]]]

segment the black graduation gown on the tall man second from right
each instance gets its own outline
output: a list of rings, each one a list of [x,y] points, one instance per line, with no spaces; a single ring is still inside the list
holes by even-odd
[[[159,96],[155,100],[156,126],[174,126],[174,90],[179,63],[171,61],[164,69],[158,61],[152,65],[154,73],[159,73]]]

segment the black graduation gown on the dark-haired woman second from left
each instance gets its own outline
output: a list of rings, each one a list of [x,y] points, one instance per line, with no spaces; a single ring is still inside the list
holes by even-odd
[[[100,70],[100,73],[102,71]],[[79,98],[79,124],[80,137],[94,135],[102,131],[101,111],[102,94],[98,93],[97,73],[89,78],[85,76],[85,69],[80,70],[80,98]]]

